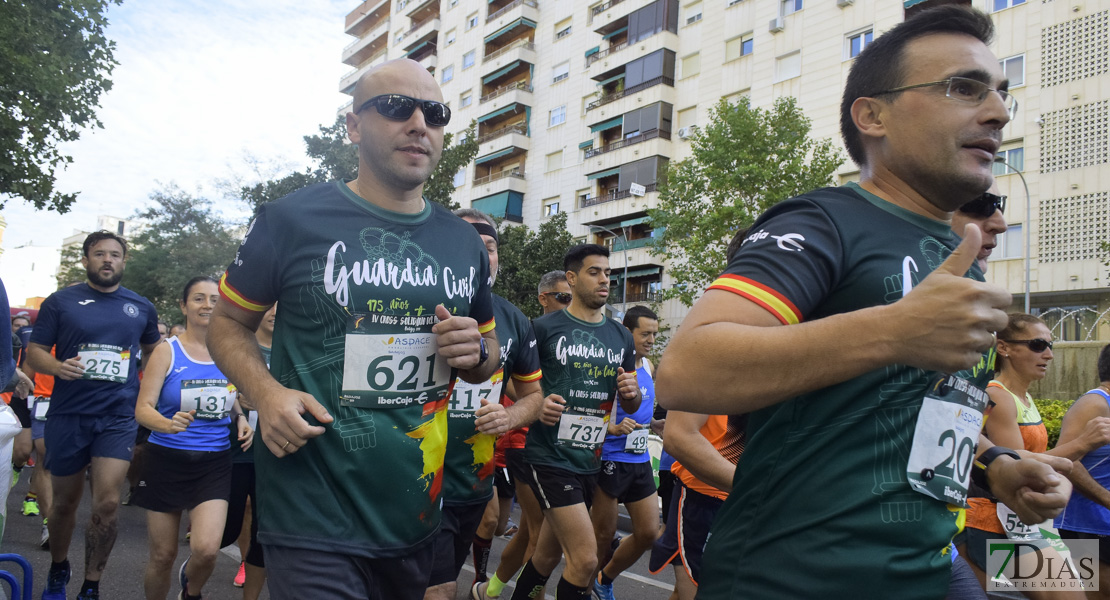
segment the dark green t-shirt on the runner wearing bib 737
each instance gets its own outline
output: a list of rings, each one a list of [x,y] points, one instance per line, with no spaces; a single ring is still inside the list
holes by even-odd
[[[544,315],[533,326],[544,394],[558,394],[566,406],[558,425],[532,425],[525,460],[573,472],[597,472],[617,394],[617,368],[636,372],[632,334],[610,318],[586,323],[566,309]]]

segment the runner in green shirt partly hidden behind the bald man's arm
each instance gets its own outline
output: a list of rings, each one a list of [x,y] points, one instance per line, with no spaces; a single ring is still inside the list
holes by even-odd
[[[455,214],[474,226],[490,254],[490,273],[497,277],[497,228],[485,213],[460,209]],[[444,462],[443,521],[435,540],[435,566],[425,600],[453,600],[458,573],[485,506],[493,498],[493,447],[496,436],[529,425],[544,406],[539,355],[528,317],[494,294],[494,319],[501,344],[501,367],[478,385],[456,380],[447,409],[447,455]],[[516,401],[501,404],[509,375]],[[556,423],[558,415],[549,416]],[[488,547],[486,547],[488,549]]]

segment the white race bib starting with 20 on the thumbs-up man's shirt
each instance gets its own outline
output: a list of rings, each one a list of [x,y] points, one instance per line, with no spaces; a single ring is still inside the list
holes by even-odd
[[[921,401],[906,465],[914,490],[967,507],[971,462],[987,399],[986,391],[951,375],[929,388]]]

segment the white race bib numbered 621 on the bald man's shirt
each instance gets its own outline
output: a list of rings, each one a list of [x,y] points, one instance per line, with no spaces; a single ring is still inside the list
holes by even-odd
[[[418,321],[413,321],[418,319]],[[402,329],[421,333],[381,333],[402,323],[420,324]],[[344,406],[403,408],[443,399],[451,386],[451,367],[436,353],[434,315],[398,317],[353,315],[347,318],[343,345]],[[477,398],[474,399],[477,403]]]

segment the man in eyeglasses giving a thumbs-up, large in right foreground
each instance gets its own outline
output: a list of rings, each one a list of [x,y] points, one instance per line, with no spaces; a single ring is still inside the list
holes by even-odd
[[[950,218],[990,186],[1016,109],[992,33],[945,6],[869,44],[841,103],[860,182],[761,215],[668,345],[665,407],[748,414],[699,599],[942,598],[972,472],[1029,522],[1067,501],[1043,462],[972,466],[1010,294]]]

